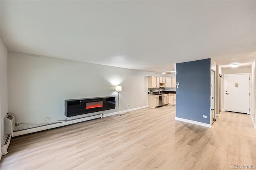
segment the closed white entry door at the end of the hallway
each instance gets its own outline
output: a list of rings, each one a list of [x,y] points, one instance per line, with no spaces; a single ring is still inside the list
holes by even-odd
[[[225,110],[249,114],[250,74],[225,75]]]

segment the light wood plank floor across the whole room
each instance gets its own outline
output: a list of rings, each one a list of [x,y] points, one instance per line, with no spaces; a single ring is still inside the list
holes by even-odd
[[[175,121],[175,106],[131,111],[16,137],[0,169],[256,168],[250,115],[221,113],[212,128]]]

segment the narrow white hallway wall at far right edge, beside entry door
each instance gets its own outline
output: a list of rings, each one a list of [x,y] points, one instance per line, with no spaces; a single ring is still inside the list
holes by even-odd
[[[252,119],[254,121],[254,126],[256,125],[256,97],[255,97],[255,85],[256,85],[256,71],[255,71],[255,59],[254,61],[252,62],[252,67],[251,67],[251,115],[252,115]]]

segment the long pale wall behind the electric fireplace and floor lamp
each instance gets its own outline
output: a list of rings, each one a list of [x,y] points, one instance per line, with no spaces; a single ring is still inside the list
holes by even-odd
[[[64,120],[64,100],[116,96],[121,85],[120,111],[148,105],[147,77],[152,72],[38,57],[8,51],[9,112],[20,123]],[[113,113],[116,109],[101,113]],[[44,121],[50,117],[49,121]]]

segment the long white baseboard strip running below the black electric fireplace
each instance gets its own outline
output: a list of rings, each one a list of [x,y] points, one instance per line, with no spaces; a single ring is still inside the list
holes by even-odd
[[[129,111],[135,111],[135,110],[143,109],[146,107],[148,107],[148,106],[136,107],[133,109],[129,109]],[[120,111],[120,113],[126,113],[126,112],[127,112],[127,110]],[[20,136],[20,135],[39,132],[42,130],[48,130],[48,129],[56,128],[56,127],[63,127],[63,126],[71,125],[71,124],[78,123],[78,122],[84,122],[84,121],[88,121],[88,120],[92,120],[92,119],[97,119],[97,118],[102,118],[102,117],[107,117],[107,116],[112,116],[112,115],[117,115],[117,114],[118,114],[118,112],[113,112],[113,113],[108,113],[108,114],[99,113],[98,115],[93,115],[93,116],[89,116],[89,117],[76,118],[76,119],[72,119],[70,121],[65,121],[65,122],[60,122],[60,123],[52,123],[52,124],[44,125],[44,126],[40,126],[40,127],[28,128],[28,129],[13,132],[13,136]],[[82,116],[82,115],[80,115],[80,116]]]

